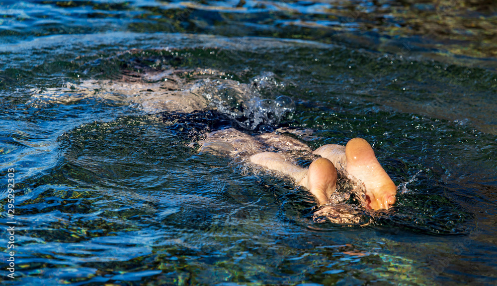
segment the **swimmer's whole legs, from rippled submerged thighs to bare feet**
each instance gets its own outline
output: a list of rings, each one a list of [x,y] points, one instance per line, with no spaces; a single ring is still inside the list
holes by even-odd
[[[253,164],[289,175],[296,184],[307,188],[320,205],[327,204],[336,190],[336,168],[347,173],[353,181],[363,183],[367,208],[388,209],[396,201],[397,187],[378,163],[371,145],[361,138],[348,141],[346,146],[321,146],[312,153],[322,158],[314,160],[308,169],[291,163],[291,159],[285,157],[285,151],[310,153],[311,149],[303,142],[281,134],[250,136],[227,128],[207,134],[205,141],[199,143],[199,153],[248,158]],[[268,150],[278,152],[264,152]]]

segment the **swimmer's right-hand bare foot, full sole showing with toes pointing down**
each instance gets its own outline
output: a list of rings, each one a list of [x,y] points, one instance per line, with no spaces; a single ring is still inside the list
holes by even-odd
[[[366,140],[354,138],[348,141],[345,156],[345,171],[364,183],[366,199],[371,209],[388,209],[395,204],[397,187],[378,163],[373,148]]]

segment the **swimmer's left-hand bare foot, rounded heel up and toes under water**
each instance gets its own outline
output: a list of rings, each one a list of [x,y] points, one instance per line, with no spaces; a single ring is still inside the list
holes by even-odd
[[[336,190],[336,169],[326,158],[314,160],[300,185],[308,188],[318,199],[318,204],[327,204],[331,194]]]

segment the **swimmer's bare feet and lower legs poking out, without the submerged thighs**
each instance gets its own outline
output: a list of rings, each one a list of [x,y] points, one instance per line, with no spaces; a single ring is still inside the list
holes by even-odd
[[[313,161],[307,170],[286,161],[278,153],[258,153],[252,155],[250,161],[290,175],[299,185],[309,189],[320,205],[327,204],[336,190],[335,166],[346,171],[351,179],[358,179],[364,184],[368,208],[388,209],[395,204],[397,187],[378,163],[373,148],[366,140],[354,138],[346,146],[324,145],[313,154],[322,158]]]

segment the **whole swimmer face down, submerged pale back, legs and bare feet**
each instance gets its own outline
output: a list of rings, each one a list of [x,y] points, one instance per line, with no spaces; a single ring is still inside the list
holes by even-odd
[[[105,90],[123,96],[124,100],[132,99],[148,112],[177,111],[190,113],[194,110],[206,109],[216,102],[223,102],[218,89],[224,85],[213,85],[210,80],[185,84],[179,73],[181,70],[165,70],[162,72],[144,73],[138,78],[123,76],[117,82],[86,81],[79,87],[83,97],[93,95],[95,90]],[[201,71],[188,71],[202,73]],[[163,80],[167,79],[167,80]],[[226,82],[230,88],[236,89],[241,103],[253,101],[250,86],[240,85],[235,81]],[[100,87],[100,88],[95,88]],[[68,86],[73,89],[73,86]],[[125,92],[126,91],[126,92]],[[116,98],[113,98],[116,100]],[[261,100],[260,104],[264,107]],[[259,102],[253,107],[258,107]],[[281,105],[279,102],[276,106]],[[250,110],[250,108],[246,108]],[[244,114],[246,116],[247,114]],[[209,133],[202,143],[200,152],[215,152],[248,159],[257,165],[271,170],[283,172],[295,180],[296,184],[308,188],[318,199],[318,203],[327,204],[336,188],[336,168],[344,171],[353,179],[363,182],[366,190],[366,207],[372,209],[387,208],[395,203],[396,186],[388,174],[380,166],[371,146],[363,139],[355,138],[347,146],[324,145],[313,154],[322,158],[315,160],[309,169],[303,169],[291,163],[285,157],[285,151],[308,151],[309,147],[301,141],[276,133],[265,133],[250,136],[233,128]],[[276,152],[275,152],[276,151]],[[281,152],[283,151],[283,152]],[[258,154],[260,153],[260,154]],[[250,157],[251,156],[251,157]]]

